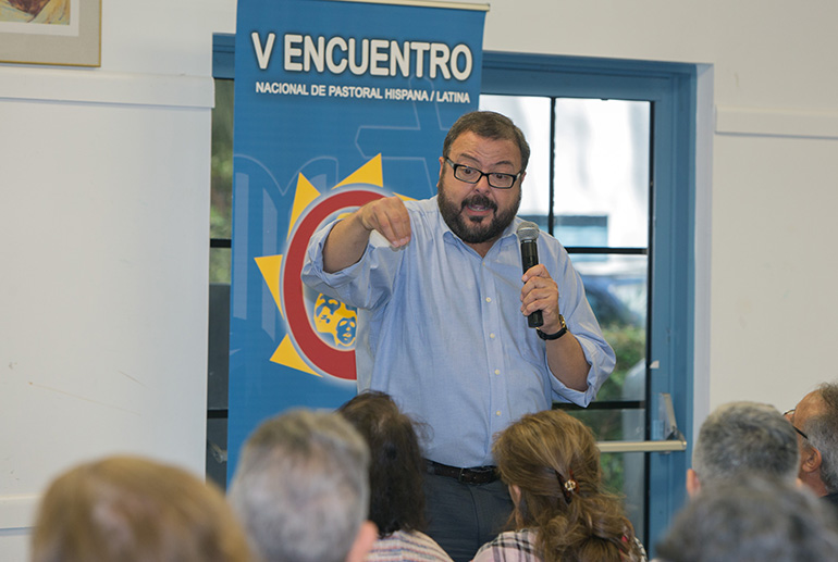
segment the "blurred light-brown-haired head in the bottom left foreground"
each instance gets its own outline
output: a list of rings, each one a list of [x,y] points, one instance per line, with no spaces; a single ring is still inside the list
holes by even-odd
[[[247,539],[212,484],[138,457],[76,466],[52,482],[32,562],[246,562]]]

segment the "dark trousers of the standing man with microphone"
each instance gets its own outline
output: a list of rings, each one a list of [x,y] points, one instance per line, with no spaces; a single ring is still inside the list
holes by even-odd
[[[449,476],[424,475],[427,534],[455,562],[469,562],[509,521],[513,500],[506,485],[464,484]]]

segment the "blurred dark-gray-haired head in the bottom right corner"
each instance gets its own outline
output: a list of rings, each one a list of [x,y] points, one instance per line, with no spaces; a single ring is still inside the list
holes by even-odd
[[[838,558],[824,504],[787,478],[705,486],[657,547],[661,562],[813,562]]]

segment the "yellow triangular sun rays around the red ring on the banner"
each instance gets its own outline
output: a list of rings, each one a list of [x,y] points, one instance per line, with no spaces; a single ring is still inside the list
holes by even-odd
[[[384,182],[381,166],[381,154],[373,157],[369,162],[349,174],[349,176],[340,182],[337,185],[333,186],[332,189],[353,184],[365,184],[383,188]],[[299,175],[294,195],[294,204],[291,210],[291,221],[286,235],[286,247],[289,242],[291,235],[294,232],[294,227],[299,221],[300,215],[321,195],[322,193],[318,191],[317,188],[311,185],[311,183],[303,174]],[[409,199],[403,196],[398,197],[405,200]],[[282,259],[283,254],[263,255],[255,258],[255,261],[262,274],[264,283],[268,285],[268,289],[271,291],[271,296],[273,297],[273,301],[276,304],[276,309],[280,311],[282,317],[285,319],[285,314],[282,310],[282,298],[280,294]],[[303,371],[315,376],[322,376],[315,372],[303,359],[303,357],[295,348],[287,332],[288,330],[286,330],[285,336],[283,337],[276,350],[273,352],[273,355],[270,358],[270,361],[291,369],[295,369],[297,371]]]

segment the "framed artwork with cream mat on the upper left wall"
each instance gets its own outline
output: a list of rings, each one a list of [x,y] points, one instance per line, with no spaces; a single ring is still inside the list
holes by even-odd
[[[0,62],[99,66],[101,0],[0,0]]]

